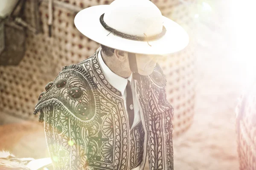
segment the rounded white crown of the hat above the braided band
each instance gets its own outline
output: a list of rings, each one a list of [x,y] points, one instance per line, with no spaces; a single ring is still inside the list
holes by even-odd
[[[115,0],[105,11],[104,21],[117,31],[140,37],[163,30],[161,11],[150,0]]]

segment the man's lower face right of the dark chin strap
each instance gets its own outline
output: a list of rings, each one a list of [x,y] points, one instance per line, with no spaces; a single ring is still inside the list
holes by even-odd
[[[160,57],[160,55],[136,54],[139,74],[143,76],[151,74]]]

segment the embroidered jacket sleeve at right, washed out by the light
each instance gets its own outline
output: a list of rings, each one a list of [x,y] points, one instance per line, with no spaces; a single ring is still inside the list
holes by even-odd
[[[157,65],[149,88],[148,163],[150,170],[173,170],[172,116],[174,109],[166,99],[166,78]]]

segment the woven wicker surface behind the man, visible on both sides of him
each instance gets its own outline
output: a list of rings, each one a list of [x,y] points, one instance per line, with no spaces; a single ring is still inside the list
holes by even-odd
[[[113,0],[49,0],[41,1],[39,7],[39,34],[26,31],[26,52],[15,66],[2,66],[0,110],[7,116],[35,120],[32,115],[37,98],[44,86],[55,79],[65,65],[78,63],[92,55],[99,44],[84,37],[74,26],[78,11],[95,5],[110,4]],[[26,1],[24,20],[33,25],[35,16],[31,2]],[[177,54],[160,61],[168,76],[167,93],[169,101],[175,105],[175,133],[184,132],[192,123],[195,99],[195,9],[196,1],[182,3],[179,0],[153,0],[162,14],[182,25],[190,35],[189,46]],[[52,20],[49,29],[49,20]],[[88,23],[90,25],[90,23]],[[34,26],[35,27],[35,26]],[[49,37],[51,34],[51,37]],[[4,120],[7,121],[7,120]]]

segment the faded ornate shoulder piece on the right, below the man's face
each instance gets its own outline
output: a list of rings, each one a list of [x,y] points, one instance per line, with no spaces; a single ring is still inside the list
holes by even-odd
[[[166,77],[163,74],[162,69],[160,68],[160,65],[157,63],[156,67],[154,68],[154,71],[149,75],[150,79],[159,87],[165,87],[166,86]]]

